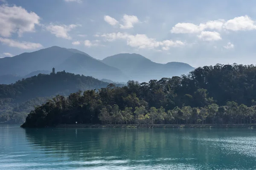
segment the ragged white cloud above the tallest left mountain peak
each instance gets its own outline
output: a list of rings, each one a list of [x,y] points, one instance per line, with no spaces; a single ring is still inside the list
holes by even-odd
[[[55,34],[56,37],[64,38],[67,40],[71,40],[68,32],[71,31],[73,28],[76,28],[78,25],[71,24],[69,26],[66,25],[53,25],[50,24],[46,27],[47,31],[50,31],[52,34]]]

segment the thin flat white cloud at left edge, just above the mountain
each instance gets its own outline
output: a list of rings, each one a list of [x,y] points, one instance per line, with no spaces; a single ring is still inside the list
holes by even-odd
[[[39,43],[26,42],[26,41],[19,42],[19,41],[11,40],[8,38],[2,38],[2,37],[0,37],[0,42],[8,45],[10,47],[17,47],[17,48],[21,48],[21,49],[35,49],[35,48],[43,47],[43,45],[41,45]]]

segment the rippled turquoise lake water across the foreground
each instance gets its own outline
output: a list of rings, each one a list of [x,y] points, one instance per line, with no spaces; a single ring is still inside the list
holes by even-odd
[[[255,170],[253,129],[0,125],[0,170]]]

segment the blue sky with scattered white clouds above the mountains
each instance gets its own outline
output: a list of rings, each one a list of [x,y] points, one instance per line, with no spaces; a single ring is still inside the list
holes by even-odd
[[[255,0],[0,0],[0,57],[54,45],[193,67],[256,64]]]

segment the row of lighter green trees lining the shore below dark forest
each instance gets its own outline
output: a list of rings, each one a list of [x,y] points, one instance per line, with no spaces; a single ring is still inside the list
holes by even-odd
[[[120,110],[117,105],[102,108],[99,114],[102,124],[251,124],[256,123],[256,106],[247,107],[236,102],[225,106],[211,104],[203,108],[175,107],[166,111],[145,106]]]

